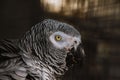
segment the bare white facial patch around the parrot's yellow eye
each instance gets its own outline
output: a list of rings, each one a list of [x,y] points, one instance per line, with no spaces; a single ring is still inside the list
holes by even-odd
[[[61,36],[61,40],[60,41],[57,41],[55,39],[55,36],[56,35],[59,35]],[[65,34],[64,32],[55,32],[53,33],[50,37],[49,37],[49,40],[51,41],[51,43],[56,47],[56,48],[59,48],[59,49],[63,49],[63,48],[71,48],[71,47],[75,47],[77,48],[77,46],[79,45],[80,43],[80,37],[73,37],[73,36],[70,36],[70,35],[67,35]]]

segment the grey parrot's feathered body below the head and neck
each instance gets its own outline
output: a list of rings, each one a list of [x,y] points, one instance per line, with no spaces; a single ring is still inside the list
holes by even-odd
[[[0,45],[0,80],[56,80],[52,68],[42,61],[37,63],[31,58],[22,58],[16,41],[3,40]]]

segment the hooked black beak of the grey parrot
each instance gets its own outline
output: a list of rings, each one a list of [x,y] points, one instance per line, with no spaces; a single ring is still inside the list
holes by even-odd
[[[71,51],[68,53],[66,58],[66,65],[67,67],[71,67],[74,64],[82,65],[84,62],[84,58],[85,58],[85,52],[84,49],[82,48],[82,45],[80,44],[76,50],[73,47]]]

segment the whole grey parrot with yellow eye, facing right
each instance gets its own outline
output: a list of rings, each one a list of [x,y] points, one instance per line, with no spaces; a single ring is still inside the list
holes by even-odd
[[[81,44],[73,26],[45,19],[20,39],[0,41],[0,80],[61,80],[83,60]]]

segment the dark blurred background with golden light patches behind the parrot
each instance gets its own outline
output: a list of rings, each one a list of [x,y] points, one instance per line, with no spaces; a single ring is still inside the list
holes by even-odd
[[[46,18],[82,35],[85,64],[64,80],[120,80],[120,0],[0,0],[0,39],[20,38]]]

